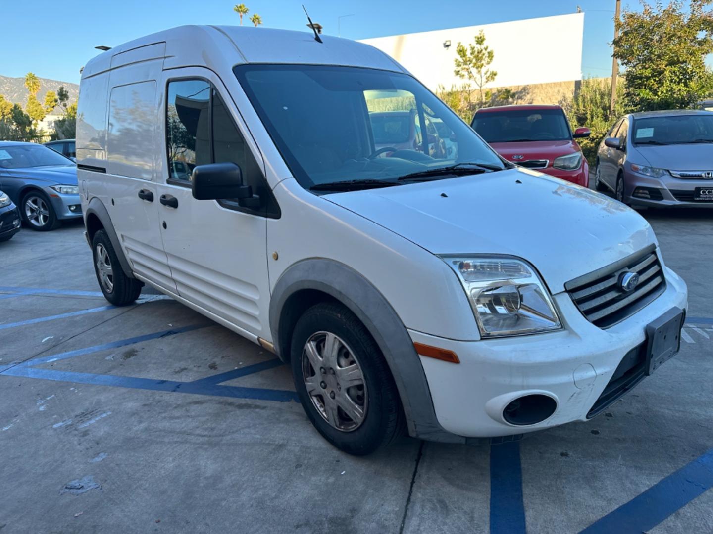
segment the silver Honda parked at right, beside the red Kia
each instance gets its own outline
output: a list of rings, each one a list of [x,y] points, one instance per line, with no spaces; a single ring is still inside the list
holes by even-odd
[[[635,206],[713,208],[713,112],[625,115],[599,145],[595,187]]]

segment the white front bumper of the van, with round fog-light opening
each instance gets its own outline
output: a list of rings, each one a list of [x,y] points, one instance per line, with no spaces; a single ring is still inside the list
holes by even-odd
[[[585,421],[630,350],[645,342],[645,328],[670,308],[687,307],[686,284],[665,268],[667,288],[630,318],[602,330],[584,318],[567,293],[554,296],[565,330],[494,340],[457,341],[409,330],[414,342],[458,355],[460,364],[421,357],[438,422],[466,438],[509,436]],[[537,424],[502,418],[526,394],[555,399],[555,412]]]

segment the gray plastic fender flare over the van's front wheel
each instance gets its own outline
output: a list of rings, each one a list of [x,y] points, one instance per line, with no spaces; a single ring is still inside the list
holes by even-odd
[[[303,260],[279,277],[270,298],[270,330],[282,360],[289,359],[284,351],[289,350],[290,343],[289,334],[280,337],[279,332],[284,305],[290,295],[305,289],[319,290],[339,300],[369,330],[394,376],[411,436],[465,442],[463,436],[449,433],[438,423],[424,367],[399,315],[364,276],[343,263],[322,258]]]

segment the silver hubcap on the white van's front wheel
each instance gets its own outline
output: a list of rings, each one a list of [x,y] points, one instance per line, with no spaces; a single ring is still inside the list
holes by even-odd
[[[302,378],[322,418],[337,430],[364,422],[368,396],[364,374],[349,346],[336,335],[317,332],[302,350]]]

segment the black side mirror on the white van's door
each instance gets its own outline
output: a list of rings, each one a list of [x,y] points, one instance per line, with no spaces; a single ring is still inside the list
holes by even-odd
[[[260,197],[252,194],[252,187],[242,184],[242,171],[233,162],[198,165],[190,180],[194,199],[237,199],[242,208],[260,207]]]

